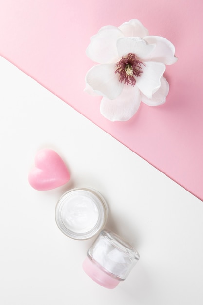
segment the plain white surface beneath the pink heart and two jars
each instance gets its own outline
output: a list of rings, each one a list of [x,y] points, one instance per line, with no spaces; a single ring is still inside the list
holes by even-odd
[[[42,148],[66,162],[71,181],[36,191],[27,175]],[[55,224],[73,187],[100,191],[108,229],[140,261],[117,288],[82,270],[92,240]],[[0,304],[202,305],[203,202],[0,57]]]

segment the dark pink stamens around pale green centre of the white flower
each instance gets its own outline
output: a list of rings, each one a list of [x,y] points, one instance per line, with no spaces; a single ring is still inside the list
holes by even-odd
[[[129,53],[127,56],[122,56],[122,59],[116,64],[115,73],[119,74],[119,81],[124,84],[134,86],[136,84],[136,77],[140,77],[144,63],[138,60],[136,54]]]

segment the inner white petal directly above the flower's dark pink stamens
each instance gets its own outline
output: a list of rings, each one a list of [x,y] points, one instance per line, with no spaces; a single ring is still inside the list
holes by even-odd
[[[148,44],[140,37],[123,37],[117,40],[118,55],[120,57],[128,53],[134,53],[142,60],[152,52],[154,47],[153,44]]]

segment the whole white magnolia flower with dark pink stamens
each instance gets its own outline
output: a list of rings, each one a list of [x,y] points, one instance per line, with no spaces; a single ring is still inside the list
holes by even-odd
[[[174,45],[166,38],[148,36],[136,19],[118,28],[104,26],[91,38],[86,54],[99,63],[86,75],[86,91],[103,96],[100,111],[111,121],[127,121],[140,102],[165,102],[169,85],[165,65],[177,61]]]

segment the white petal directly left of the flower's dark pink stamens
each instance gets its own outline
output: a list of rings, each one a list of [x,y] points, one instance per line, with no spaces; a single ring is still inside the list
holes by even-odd
[[[121,94],[123,83],[115,74],[115,64],[97,65],[92,67],[86,75],[86,83],[97,93],[109,99],[115,99]]]

